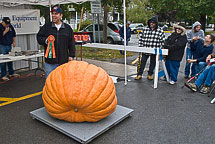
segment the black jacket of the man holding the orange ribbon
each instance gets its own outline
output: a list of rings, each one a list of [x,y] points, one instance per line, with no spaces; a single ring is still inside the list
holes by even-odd
[[[68,62],[69,57],[75,57],[75,41],[72,28],[65,23],[62,23],[59,31],[54,23],[45,24],[37,34],[37,41],[47,50],[46,39],[49,35],[55,37],[54,47],[56,58],[45,58],[45,62],[49,64],[63,64]]]

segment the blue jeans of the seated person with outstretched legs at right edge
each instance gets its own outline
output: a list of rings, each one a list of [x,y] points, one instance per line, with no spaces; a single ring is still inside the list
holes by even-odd
[[[215,80],[215,64],[207,66],[205,70],[199,75],[198,79],[195,81],[195,84],[199,89],[202,84],[205,84],[205,86],[211,86],[214,80]]]

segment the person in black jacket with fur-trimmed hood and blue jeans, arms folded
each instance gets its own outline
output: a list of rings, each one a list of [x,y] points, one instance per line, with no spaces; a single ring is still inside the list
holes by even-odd
[[[173,29],[174,32],[164,42],[164,48],[168,49],[165,65],[170,78],[169,84],[171,85],[175,84],[178,79],[180,62],[187,44],[185,25],[183,23],[175,24]],[[166,80],[165,77],[161,79]]]

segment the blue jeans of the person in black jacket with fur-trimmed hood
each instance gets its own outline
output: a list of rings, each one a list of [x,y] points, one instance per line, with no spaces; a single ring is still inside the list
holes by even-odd
[[[180,61],[166,60],[166,70],[168,72],[170,80],[176,82],[178,80],[178,71],[180,67]]]

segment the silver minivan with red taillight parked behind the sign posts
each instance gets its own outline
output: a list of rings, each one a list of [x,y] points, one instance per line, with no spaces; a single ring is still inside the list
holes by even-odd
[[[114,44],[114,43],[121,43],[120,35],[119,35],[119,26],[114,23],[107,24],[107,43]],[[82,30],[83,32],[93,32],[93,25],[89,25]],[[99,33],[100,33],[100,40],[103,41],[103,24],[99,24]],[[95,37],[96,42],[99,41],[98,36],[98,24],[95,24]]]

